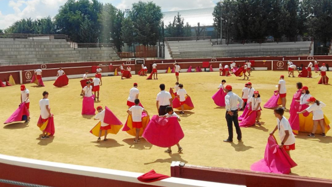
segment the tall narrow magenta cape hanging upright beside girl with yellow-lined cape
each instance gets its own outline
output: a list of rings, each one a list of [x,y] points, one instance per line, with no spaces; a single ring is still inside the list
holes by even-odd
[[[300,112],[300,103],[296,102],[295,100],[300,100],[300,97],[301,91],[297,90],[296,93],[294,93],[293,99],[290,103],[290,118],[288,119],[291,129],[297,132],[300,130],[300,124],[297,114],[297,112]]]

